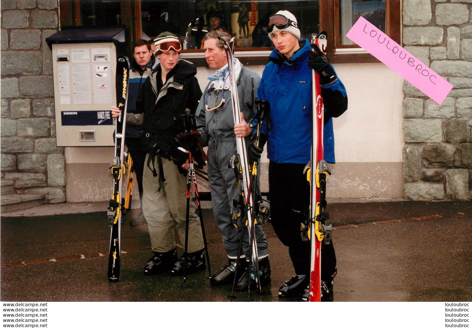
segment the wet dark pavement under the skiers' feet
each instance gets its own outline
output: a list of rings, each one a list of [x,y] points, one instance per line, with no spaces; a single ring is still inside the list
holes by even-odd
[[[8,213],[0,225],[2,301],[228,302],[229,286],[210,287],[208,270],[144,276],[152,255],[147,225],[121,230],[118,283],[107,280],[110,228],[105,203],[56,204]],[[335,301],[472,301],[472,201],[330,203],[337,254]],[[86,213],[83,213],[86,212]],[[211,209],[203,209],[211,271],[227,263]],[[271,283],[253,301],[279,300],[294,272],[270,224]],[[179,254],[182,249],[179,249]],[[236,293],[244,301],[246,293]]]

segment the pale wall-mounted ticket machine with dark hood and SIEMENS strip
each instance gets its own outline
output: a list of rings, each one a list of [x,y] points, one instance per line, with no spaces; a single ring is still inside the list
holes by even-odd
[[[110,108],[125,29],[66,29],[46,42],[52,51],[57,146],[112,146]]]

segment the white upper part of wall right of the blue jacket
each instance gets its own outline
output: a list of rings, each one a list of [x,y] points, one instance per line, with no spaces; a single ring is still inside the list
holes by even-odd
[[[403,161],[403,78],[382,63],[335,64],[348,109],[333,120],[337,162]]]

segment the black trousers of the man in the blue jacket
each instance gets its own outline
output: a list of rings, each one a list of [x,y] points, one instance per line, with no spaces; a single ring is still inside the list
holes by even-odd
[[[278,239],[288,246],[297,275],[310,275],[310,242],[300,235],[300,212],[310,208],[310,182],[303,174],[304,164],[269,163],[269,197],[272,226]],[[295,211],[294,211],[295,209]],[[328,222],[329,223],[329,222]],[[329,281],[336,268],[333,241],[321,244],[321,279]]]

